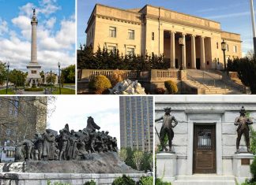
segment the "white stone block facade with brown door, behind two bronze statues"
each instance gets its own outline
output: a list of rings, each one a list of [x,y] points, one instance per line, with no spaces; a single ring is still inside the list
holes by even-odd
[[[173,129],[175,154],[156,154],[157,176],[164,176],[173,184],[234,185],[235,180],[242,183],[252,177],[250,164],[254,155],[247,153],[243,137],[241,154],[235,154],[237,127],[234,122],[242,106],[255,121],[255,99],[248,96],[157,96],[155,99],[156,118],[164,115],[165,107],[171,107],[171,115],[179,122]],[[161,125],[162,122],[156,122],[157,131]],[[255,129],[256,124],[252,127]],[[155,137],[157,147],[160,140]]]

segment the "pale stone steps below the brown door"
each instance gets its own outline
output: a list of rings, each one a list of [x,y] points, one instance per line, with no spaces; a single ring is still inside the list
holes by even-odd
[[[235,185],[235,176],[217,176],[216,174],[194,174],[176,176],[173,185]]]

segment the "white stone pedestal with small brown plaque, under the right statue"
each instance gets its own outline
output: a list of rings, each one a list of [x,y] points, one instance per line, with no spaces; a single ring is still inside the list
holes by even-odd
[[[233,173],[238,183],[243,183],[245,179],[252,178],[250,164],[253,160],[254,155],[249,153],[234,154],[232,156]],[[247,164],[247,162],[249,162],[249,164]]]

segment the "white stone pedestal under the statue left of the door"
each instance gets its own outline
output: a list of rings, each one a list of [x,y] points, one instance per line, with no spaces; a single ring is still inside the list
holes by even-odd
[[[176,174],[177,155],[167,152],[156,154],[156,177],[172,183],[175,181]]]

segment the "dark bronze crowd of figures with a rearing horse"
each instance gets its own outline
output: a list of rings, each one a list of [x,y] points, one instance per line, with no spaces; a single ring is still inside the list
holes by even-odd
[[[46,129],[42,135],[36,133],[32,140],[24,139],[16,147],[15,161],[83,160],[86,154],[108,151],[118,151],[117,139],[108,131],[100,131],[100,126],[88,117],[83,130],[70,131],[66,124],[59,135]]]

